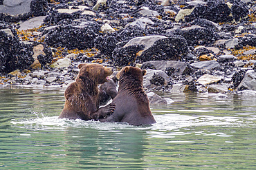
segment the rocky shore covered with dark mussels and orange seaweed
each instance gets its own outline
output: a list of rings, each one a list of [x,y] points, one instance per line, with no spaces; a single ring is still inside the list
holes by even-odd
[[[256,94],[256,3],[0,0],[0,87],[64,88],[79,63],[141,67],[149,92]]]

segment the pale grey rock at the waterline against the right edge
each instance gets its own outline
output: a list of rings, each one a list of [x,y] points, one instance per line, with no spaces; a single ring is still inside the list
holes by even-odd
[[[238,90],[250,89],[256,90],[256,72],[254,70],[248,70],[237,87]]]

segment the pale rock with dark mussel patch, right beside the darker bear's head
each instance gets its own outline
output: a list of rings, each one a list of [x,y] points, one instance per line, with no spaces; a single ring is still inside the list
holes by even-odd
[[[156,86],[156,85],[152,85],[151,83],[154,75],[162,77],[165,84],[167,84],[167,81],[169,81],[169,78],[167,74],[165,74],[165,72],[161,70],[147,69],[147,74],[143,78],[143,87],[151,88]]]

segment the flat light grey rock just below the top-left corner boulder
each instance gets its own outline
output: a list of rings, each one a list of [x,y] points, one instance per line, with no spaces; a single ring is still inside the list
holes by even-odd
[[[39,28],[44,23],[44,19],[46,19],[45,16],[41,17],[35,17],[33,19],[30,19],[28,21],[25,21],[20,24],[19,30],[28,30],[33,28]]]

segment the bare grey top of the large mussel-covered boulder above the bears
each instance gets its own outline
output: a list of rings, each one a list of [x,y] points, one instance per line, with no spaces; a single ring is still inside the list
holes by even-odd
[[[144,50],[149,49],[152,47],[154,42],[158,41],[159,39],[166,39],[167,36],[162,35],[151,35],[151,36],[139,36],[134,39],[131,39],[124,47],[128,47],[129,45],[145,45]]]

